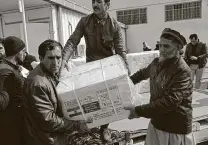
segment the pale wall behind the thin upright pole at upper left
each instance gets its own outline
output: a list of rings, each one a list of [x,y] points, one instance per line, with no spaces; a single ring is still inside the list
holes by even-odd
[[[50,36],[50,6],[37,7],[25,12],[29,53],[38,59],[38,46]],[[16,36],[25,40],[22,13],[8,11],[2,14],[3,37]]]

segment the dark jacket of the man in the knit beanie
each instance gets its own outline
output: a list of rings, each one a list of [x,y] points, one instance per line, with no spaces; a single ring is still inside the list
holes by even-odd
[[[0,144],[23,145],[24,78],[17,65],[6,59],[0,63]]]

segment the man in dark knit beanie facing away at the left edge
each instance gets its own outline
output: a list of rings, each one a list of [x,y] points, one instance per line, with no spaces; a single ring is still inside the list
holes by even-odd
[[[14,36],[4,40],[6,58],[0,64],[0,142],[23,145],[22,88],[19,65],[25,57],[25,43]]]

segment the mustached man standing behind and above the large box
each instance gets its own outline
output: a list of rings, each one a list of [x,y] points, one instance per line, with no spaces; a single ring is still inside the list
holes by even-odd
[[[115,54],[120,55],[128,69],[126,50],[123,47],[121,28],[107,10],[110,0],[92,0],[93,13],[81,18],[74,33],[68,39],[63,50],[63,65],[65,66],[80,39],[84,36],[86,42],[86,62],[103,59]],[[128,69],[128,73],[130,71]],[[108,124],[101,126],[103,139],[109,140]]]

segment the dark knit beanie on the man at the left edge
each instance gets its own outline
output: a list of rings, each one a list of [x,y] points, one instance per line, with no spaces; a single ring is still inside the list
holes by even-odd
[[[9,36],[4,40],[4,49],[6,56],[16,55],[24,48],[25,43],[15,36]]]

